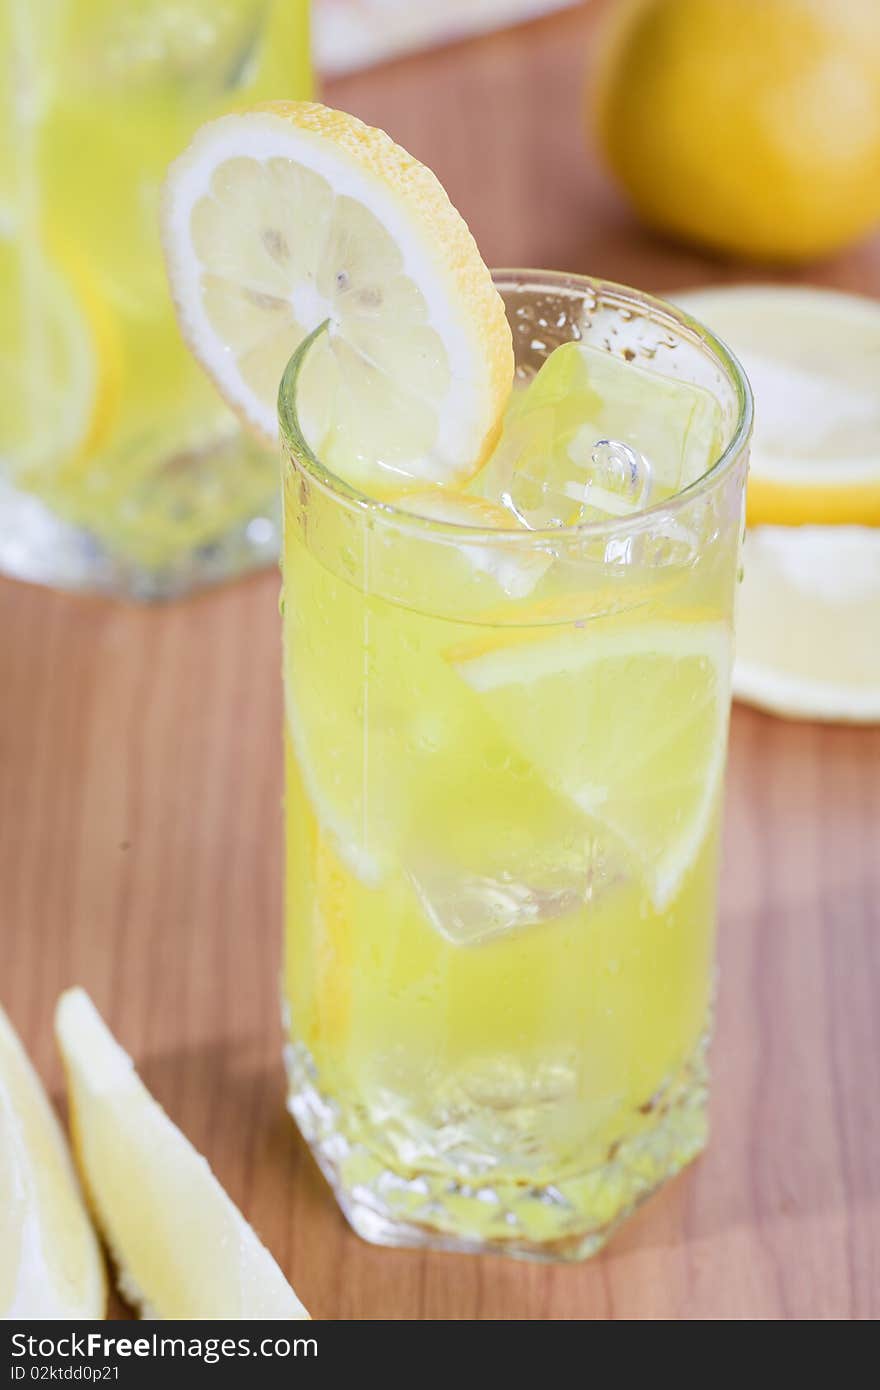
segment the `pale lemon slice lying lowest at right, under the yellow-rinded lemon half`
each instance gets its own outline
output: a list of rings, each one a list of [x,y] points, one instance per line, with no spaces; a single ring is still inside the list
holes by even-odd
[[[747,532],[733,685],[790,719],[880,721],[880,530]]]

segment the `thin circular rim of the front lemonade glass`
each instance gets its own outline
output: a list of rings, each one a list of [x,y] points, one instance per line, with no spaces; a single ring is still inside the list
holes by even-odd
[[[291,379],[291,368],[298,356],[298,353],[293,353],[284,370],[281,385],[278,386],[278,431],[281,443],[298,459],[298,461],[304,460],[304,463],[307,463],[309,475],[323,489],[331,493],[335,500],[343,506],[355,507],[361,514],[374,516],[391,525],[399,527],[400,530],[412,531],[416,535],[421,534],[437,538],[455,538],[457,543],[473,542],[478,545],[488,543],[519,546],[553,542],[559,545],[563,538],[582,537],[591,539],[594,537],[603,535],[614,538],[634,531],[637,532],[642,525],[649,525],[651,520],[658,516],[669,516],[670,513],[674,514],[687,507],[695,498],[699,498],[702,493],[710,491],[719,480],[733,468],[747,448],[752,432],[752,388],[738,357],[730,350],[722,338],[716,336],[716,334],[706,328],[706,325],[698,318],[694,318],[678,304],[673,304],[658,295],[651,295],[641,289],[633,289],[630,285],[621,285],[616,281],[602,279],[594,275],[581,275],[577,272],[555,270],[513,270],[506,267],[492,270],[491,275],[494,284],[499,289],[521,289],[534,285],[535,289],[564,288],[574,292],[581,291],[584,292],[584,297],[589,293],[598,300],[601,300],[603,295],[606,297],[623,296],[624,299],[628,299],[630,303],[653,310],[653,314],[648,314],[648,317],[666,320],[670,325],[674,324],[678,328],[685,328],[692,336],[699,339],[705,349],[709,350],[717,364],[724,370],[728,381],[733,382],[737,396],[737,421],[728,443],[724,446],[719,457],[710,463],[698,478],[688,482],[678,492],[674,492],[671,498],[667,498],[663,502],[652,502],[651,506],[631,512],[626,517],[608,517],[599,521],[578,521],[574,525],[537,527],[534,530],[521,525],[517,527],[516,524],[510,527],[485,527],[471,525],[464,521],[441,521],[435,517],[418,516],[418,513],[407,512],[399,505],[382,502],[370,496],[368,492],[363,492],[353,484],[346,482],[345,478],[334,473],[317,457],[309,446],[309,442],[303,438],[298,423],[295,389]],[[438,484],[438,486],[442,485]]]

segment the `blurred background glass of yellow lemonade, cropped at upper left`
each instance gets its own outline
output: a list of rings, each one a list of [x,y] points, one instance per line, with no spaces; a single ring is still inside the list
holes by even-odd
[[[310,92],[307,0],[0,0],[0,570],[170,596],[271,562],[277,459],[188,353],[160,185]]]

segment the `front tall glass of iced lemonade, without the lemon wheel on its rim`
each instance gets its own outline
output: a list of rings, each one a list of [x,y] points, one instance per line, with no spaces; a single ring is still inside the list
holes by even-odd
[[[562,407],[637,505],[519,530],[382,505],[304,443],[288,370],[289,1106],[366,1238],[577,1259],[706,1141],[751,396],[659,300],[495,282],[520,384],[594,354]],[[667,385],[715,413],[676,489],[635,452],[674,434]]]

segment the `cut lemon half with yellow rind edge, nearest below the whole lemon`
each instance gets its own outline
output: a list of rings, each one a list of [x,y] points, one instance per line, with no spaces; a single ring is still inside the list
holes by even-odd
[[[755,393],[751,525],[880,525],[880,303],[747,285],[674,296]]]

